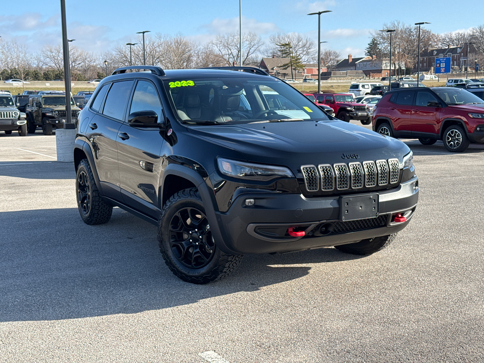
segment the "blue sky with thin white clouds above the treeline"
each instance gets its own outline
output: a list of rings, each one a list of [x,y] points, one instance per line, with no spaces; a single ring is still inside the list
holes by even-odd
[[[167,35],[180,33],[204,43],[218,33],[239,29],[239,0],[66,0],[66,3],[68,37],[76,39],[77,46],[93,52],[135,41],[136,31],[141,30]],[[357,57],[363,55],[370,40],[369,31],[380,29],[385,22],[428,21],[431,22],[428,28],[437,33],[468,30],[484,23],[480,16],[470,16],[483,13],[483,0],[467,0],[465,7],[472,12],[466,11],[463,16],[455,16],[458,4],[448,0],[242,0],[242,31],[256,32],[264,40],[276,32],[299,32],[317,42],[318,17],[306,14],[332,10],[321,15],[321,41],[327,41],[325,47],[343,56],[352,53]],[[30,51],[37,51],[44,44],[60,43],[60,1],[2,1],[0,36],[4,40],[15,38]]]

